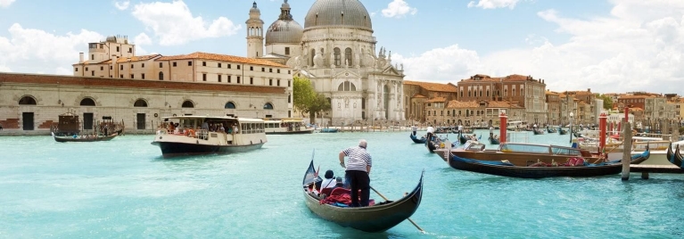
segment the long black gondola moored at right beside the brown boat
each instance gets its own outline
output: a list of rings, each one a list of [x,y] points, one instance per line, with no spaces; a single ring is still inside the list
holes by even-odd
[[[646,161],[649,156],[650,152],[647,150],[641,154],[632,156],[630,163],[639,164]],[[568,161],[570,161],[570,159],[568,159]],[[501,156],[501,161],[479,161],[451,155],[448,163],[449,166],[454,169],[504,177],[522,178],[597,177],[617,174],[622,171],[622,162],[620,160],[601,163],[584,163],[579,166],[535,167],[532,165],[515,165],[510,161],[506,161],[505,155]]]

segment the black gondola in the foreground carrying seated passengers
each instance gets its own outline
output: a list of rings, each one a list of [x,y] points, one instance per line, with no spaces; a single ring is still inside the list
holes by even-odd
[[[323,198],[313,192],[312,188],[317,181],[321,181],[321,178],[317,177],[314,161],[311,160],[302,182],[304,202],[306,202],[309,210],[318,217],[337,223],[342,227],[352,227],[370,233],[386,231],[408,219],[416,212],[423,198],[423,173],[416,188],[399,200],[375,203],[373,206],[360,208],[321,204],[320,201]],[[344,189],[340,188],[339,190]]]

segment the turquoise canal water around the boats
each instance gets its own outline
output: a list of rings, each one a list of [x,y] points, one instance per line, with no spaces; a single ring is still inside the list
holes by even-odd
[[[478,130],[478,135],[488,131]],[[454,135],[449,135],[455,139]],[[371,185],[397,199],[425,170],[413,220],[380,234],[317,218],[301,179],[313,149],[342,175],[337,154],[368,141]],[[569,136],[529,136],[567,145]],[[161,158],[152,136],[56,143],[0,137],[2,238],[682,238],[684,176],[631,174],[519,179],[450,169],[408,132],[268,136],[260,150]],[[371,193],[371,197],[380,197]]]

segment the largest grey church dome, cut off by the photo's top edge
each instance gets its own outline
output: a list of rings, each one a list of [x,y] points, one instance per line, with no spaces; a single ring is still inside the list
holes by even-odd
[[[370,14],[358,0],[317,0],[304,19],[304,28],[327,26],[373,29]]]

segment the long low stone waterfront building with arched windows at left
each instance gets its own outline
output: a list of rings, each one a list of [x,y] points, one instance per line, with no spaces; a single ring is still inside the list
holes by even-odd
[[[285,86],[0,73],[0,92],[3,135],[49,135],[58,116],[68,111],[79,116],[85,131],[112,119],[140,133],[152,133],[167,116],[284,117],[289,112]]]

